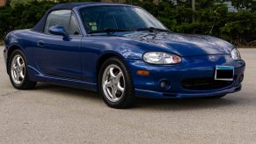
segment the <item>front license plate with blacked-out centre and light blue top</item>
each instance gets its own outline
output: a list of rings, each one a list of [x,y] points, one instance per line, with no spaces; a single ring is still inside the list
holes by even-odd
[[[216,81],[233,81],[234,80],[234,67],[230,66],[216,66]]]

